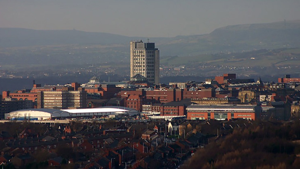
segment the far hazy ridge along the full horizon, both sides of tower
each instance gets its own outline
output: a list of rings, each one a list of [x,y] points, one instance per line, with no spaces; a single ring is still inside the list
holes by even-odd
[[[300,47],[298,37],[300,37],[300,20],[231,25],[205,35],[150,38],[150,41],[156,43],[161,56],[191,56],[221,51],[242,52],[253,49]],[[78,30],[0,28],[0,48],[66,44],[129,46],[129,41],[140,39],[146,41],[147,38]],[[116,48],[115,52],[124,52],[119,50]]]

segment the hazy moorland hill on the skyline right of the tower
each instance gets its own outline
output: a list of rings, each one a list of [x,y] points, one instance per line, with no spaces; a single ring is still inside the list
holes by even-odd
[[[180,36],[161,44],[172,55],[242,52],[255,49],[300,47],[300,20],[231,25],[205,35]]]

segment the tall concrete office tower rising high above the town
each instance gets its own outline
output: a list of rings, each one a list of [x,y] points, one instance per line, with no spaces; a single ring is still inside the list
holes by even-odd
[[[159,83],[159,50],[154,43],[130,42],[130,77],[136,74],[150,83]]]

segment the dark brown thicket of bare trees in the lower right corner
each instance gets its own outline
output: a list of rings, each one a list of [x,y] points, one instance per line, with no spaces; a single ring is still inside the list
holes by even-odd
[[[252,122],[235,128],[196,151],[187,162],[189,169],[285,169],[300,167],[300,121],[285,124]]]

